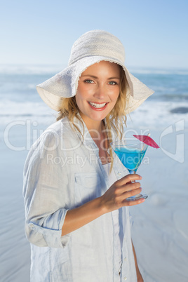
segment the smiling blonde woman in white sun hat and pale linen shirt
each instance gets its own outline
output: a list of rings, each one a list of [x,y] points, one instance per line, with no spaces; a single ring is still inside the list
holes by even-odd
[[[140,193],[109,143],[153,91],[124,66],[123,45],[101,30],[73,45],[69,66],[37,86],[59,112],[25,163],[25,231],[31,281],[143,281],[126,201]],[[124,176],[126,175],[126,176]]]

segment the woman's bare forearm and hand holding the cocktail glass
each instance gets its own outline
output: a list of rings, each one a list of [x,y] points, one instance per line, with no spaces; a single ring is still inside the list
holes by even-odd
[[[93,199],[88,203],[84,203],[79,208],[68,210],[65,222],[62,226],[62,236],[79,229],[83,225],[88,224],[112,210],[117,210],[122,206],[137,205],[138,203],[145,201],[145,199],[126,201],[126,198],[140,193],[140,183],[131,183],[133,180],[140,179],[142,179],[142,177],[137,174],[126,175],[120,180],[114,182],[104,195]]]

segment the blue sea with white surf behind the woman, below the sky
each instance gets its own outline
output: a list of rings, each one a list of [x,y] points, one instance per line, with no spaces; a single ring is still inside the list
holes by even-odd
[[[30,121],[49,124],[57,113],[39,97],[36,85],[51,78],[65,66],[0,65],[0,124]],[[159,69],[128,67],[129,71],[155,93],[128,116],[128,124],[143,128],[163,128],[188,121],[188,68]]]

